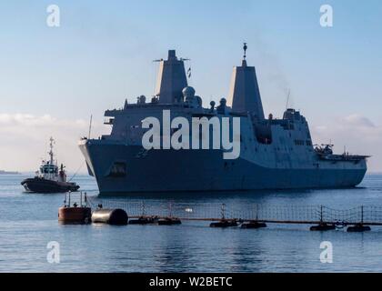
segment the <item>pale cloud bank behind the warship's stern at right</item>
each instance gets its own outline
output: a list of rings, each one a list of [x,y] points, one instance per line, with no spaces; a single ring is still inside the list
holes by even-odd
[[[335,145],[339,153],[372,156],[369,159],[371,172],[382,172],[382,126],[374,124],[366,116],[354,114],[327,120],[325,125],[313,125],[312,135],[317,144]]]

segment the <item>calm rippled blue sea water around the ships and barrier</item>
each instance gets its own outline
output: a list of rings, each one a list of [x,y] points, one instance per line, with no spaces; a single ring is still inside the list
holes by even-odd
[[[207,223],[182,226],[62,226],[57,209],[63,195],[25,194],[25,176],[0,176],[0,272],[381,272],[382,228],[351,234],[309,232],[308,226],[261,230],[214,229]],[[95,180],[76,181],[89,196]],[[367,176],[361,187],[235,193],[214,196],[118,198],[146,204],[325,205],[347,209],[382,206],[382,176]],[[60,245],[60,263],[46,259],[48,242]],[[333,264],[322,264],[320,244],[333,245]]]

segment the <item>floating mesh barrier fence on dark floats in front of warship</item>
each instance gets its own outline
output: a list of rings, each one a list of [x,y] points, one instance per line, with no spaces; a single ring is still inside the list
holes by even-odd
[[[126,202],[87,197],[93,209],[124,209],[131,224],[179,225],[180,221],[206,221],[212,227],[242,226],[264,228],[266,224],[310,225],[312,231],[326,231],[347,227],[348,232],[370,230],[369,226],[382,226],[382,206],[357,206],[351,209],[334,209],[327,206],[272,206],[248,205],[246,209],[205,203],[164,203],[147,205],[145,202]],[[161,225],[161,223],[159,223]]]

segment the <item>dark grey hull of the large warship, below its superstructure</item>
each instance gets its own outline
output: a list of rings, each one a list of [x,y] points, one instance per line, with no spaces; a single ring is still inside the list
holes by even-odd
[[[221,151],[164,150],[143,156],[141,146],[106,146],[97,141],[84,142],[80,148],[103,195],[347,188],[359,185],[367,172],[362,162],[327,162],[320,168],[270,168],[242,158],[226,161]],[[126,163],[126,176],[110,175],[110,161]]]

